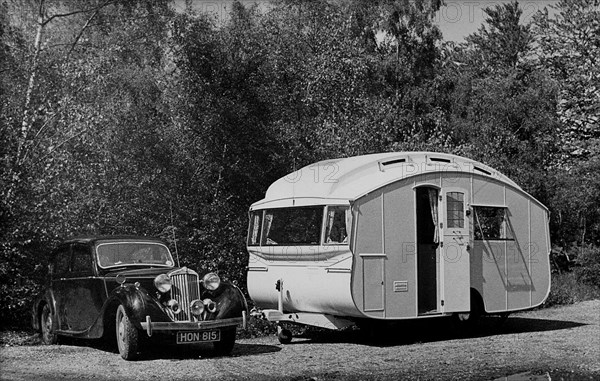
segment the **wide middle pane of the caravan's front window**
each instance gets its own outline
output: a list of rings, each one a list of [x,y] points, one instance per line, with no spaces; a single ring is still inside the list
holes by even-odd
[[[262,245],[319,245],[323,206],[265,210]]]

